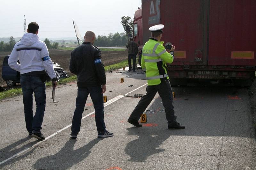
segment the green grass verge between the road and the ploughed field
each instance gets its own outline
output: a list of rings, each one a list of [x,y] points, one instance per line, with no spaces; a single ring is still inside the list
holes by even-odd
[[[136,59],[136,63],[138,63],[138,58]],[[123,67],[127,67],[128,66],[128,61],[122,61],[120,63],[116,63],[116,64],[112,64],[109,66],[105,66],[105,71],[110,71],[110,70],[116,70],[116,69],[120,69]],[[65,84],[65,83],[69,83],[69,82],[73,82],[76,81],[76,76],[70,76],[69,78],[62,78],[60,79],[60,81],[58,81],[58,85],[61,84]],[[46,86],[52,86],[52,82],[46,82],[45,83]],[[5,98],[9,98],[9,97],[14,97],[14,96],[18,96],[22,94],[22,90],[21,88],[15,88],[15,89],[11,89],[11,90],[7,90],[4,92],[0,92],[0,100],[3,100]]]

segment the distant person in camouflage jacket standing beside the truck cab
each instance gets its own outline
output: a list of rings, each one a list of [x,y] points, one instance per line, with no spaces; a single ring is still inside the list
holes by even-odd
[[[130,41],[126,45],[126,48],[128,48],[129,71],[135,71],[138,45],[136,44],[136,42],[133,41],[133,38],[130,38]]]

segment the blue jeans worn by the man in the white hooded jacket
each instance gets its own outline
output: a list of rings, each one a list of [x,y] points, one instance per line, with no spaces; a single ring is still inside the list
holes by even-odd
[[[45,110],[45,83],[37,76],[21,76],[20,85],[23,92],[26,128],[29,133],[40,132]],[[36,100],[35,115],[33,115],[33,92]]]

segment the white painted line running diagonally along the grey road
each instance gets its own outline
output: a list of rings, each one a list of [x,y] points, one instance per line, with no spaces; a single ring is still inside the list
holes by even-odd
[[[147,84],[145,84],[145,85],[147,85]],[[138,90],[139,88],[141,88],[141,87],[143,87],[143,86],[145,86],[145,85],[142,85],[142,86],[138,87],[137,89],[132,90],[131,92],[134,92],[135,90]],[[128,93],[125,94],[125,95],[128,95],[128,94],[131,93],[131,92],[128,92]],[[115,101],[121,99],[122,97],[124,97],[124,96],[123,96],[123,95],[120,95],[120,96],[114,97],[113,99],[108,100],[108,102],[104,103],[104,107],[106,107],[106,106],[110,105],[111,103],[113,103],[113,102],[115,102]],[[84,117],[82,117],[82,120],[83,120],[84,118],[86,118],[86,117],[88,117],[88,116],[94,114],[94,113],[95,113],[95,111],[93,111],[92,113],[89,113],[88,115],[85,115]],[[62,129],[60,129],[59,131],[53,133],[52,135],[46,137],[44,140],[42,140],[42,141],[40,141],[40,142],[37,142],[37,143],[34,144],[33,146],[31,146],[31,147],[29,147],[29,148],[27,148],[27,149],[24,149],[24,150],[22,150],[22,151],[16,153],[15,155],[13,155],[12,157],[10,157],[10,158],[8,158],[8,159],[3,160],[2,162],[0,162],[0,165],[3,164],[3,163],[5,163],[5,162],[7,162],[8,160],[10,160],[10,159],[12,159],[12,158],[15,158],[16,156],[20,155],[21,153],[28,151],[29,149],[31,149],[31,148],[37,146],[38,144],[41,144],[42,142],[46,141],[47,139],[49,139],[49,138],[51,138],[51,137],[54,137],[55,135],[57,135],[58,133],[62,132],[63,130],[68,129],[71,125],[72,125],[72,124],[69,124],[69,125],[66,126],[65,128],[62,128]]]

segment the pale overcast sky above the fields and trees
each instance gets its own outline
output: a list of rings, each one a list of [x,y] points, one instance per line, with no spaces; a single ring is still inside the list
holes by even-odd
[[[122,33],[122,16],[133,19],[141,0],[0,0],[0,37],[21,37],[26,24],[36,21],[41,38],[75,37],[72,19],[84,36]]]

